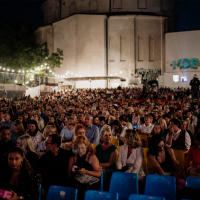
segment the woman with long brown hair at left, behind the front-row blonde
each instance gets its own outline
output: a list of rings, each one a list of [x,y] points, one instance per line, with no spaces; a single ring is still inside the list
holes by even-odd
[[[23,126],[22,122],[20,120],[16,119],[14,121],[14,128],[13,128],[13,132],[11,133],[10,140],[14,144],[17,144],[17,139],[24,134],[25,134],[25,131],[24,131],[24,126]]]

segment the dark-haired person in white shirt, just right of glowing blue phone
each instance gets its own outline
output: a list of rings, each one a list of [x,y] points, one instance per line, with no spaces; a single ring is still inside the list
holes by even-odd
[[[138,128],[138,133],[139,134],[146,134],[147,136],[151,135],[151,131],[153,130],[154,125],[151,124],[151,117],[150,115],[145,115],[144,116],[144,121],[145,123],[140,125]]]

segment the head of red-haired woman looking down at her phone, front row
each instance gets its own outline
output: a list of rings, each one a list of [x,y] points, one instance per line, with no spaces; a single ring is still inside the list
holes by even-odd
[[[79,156],[83,156],[86,154],[89,144],[90,142],[88,141],[87,137],[83,135],[78,136],[74,141],[74,150],[77,150]]]

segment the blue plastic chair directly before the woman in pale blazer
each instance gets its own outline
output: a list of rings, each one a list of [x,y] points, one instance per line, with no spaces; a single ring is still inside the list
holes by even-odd
[[[120,200],[128,200],[131,194],[138,194],[138,175],[113,172],[109,192],[118,193]]]

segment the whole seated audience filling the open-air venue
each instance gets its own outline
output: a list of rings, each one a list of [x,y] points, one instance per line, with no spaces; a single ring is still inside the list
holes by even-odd
[[[185,88],[75,89],[0,100],[0,189],[36,200],[39,185],[109,190],[114,171],[137,173],[143,193],[145,141],[154,173],[200,176],[200,101]],[[113,144],[119,141],[119,146]],[[120,150],[119,150],[120,148]],[[181,168],[174,149],[185,154]],[[101,177],[103,171],[103,177]],[[180,186],[180,185],[179,185]],[[182,185],[184,187],[184,185]],[[181,190],[181,186],[179,187]]]

